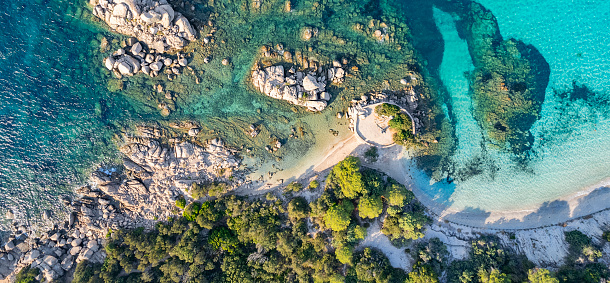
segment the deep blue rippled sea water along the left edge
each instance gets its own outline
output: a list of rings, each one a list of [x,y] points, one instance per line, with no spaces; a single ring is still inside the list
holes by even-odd
[[[35,218],[110,161],[115,122],[139,115],[92,68],[100,33],[78,3],[2,2],[0,219],[7,209]]]

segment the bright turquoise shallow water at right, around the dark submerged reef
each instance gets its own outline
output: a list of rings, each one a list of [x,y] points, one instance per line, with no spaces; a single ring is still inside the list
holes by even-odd
[[[444,41],[439,74],[450,97],[447,106],[457,117],[457,148],[453,176],[436,182],[420,173],[418,187],[452,209],[491,212],[535,209],[601,186],[610,177],[610,56],[605,43],[610,6],[605,1],[481,3],[495,14],[505,39],[532,44],[550,65],[541,119],[532,128],[536,141],[531,158],[523,166],[511,154],[482,142],[484,133],[472,118],[463,75],[472,68],[466,41],[458,35],[456,19],[435,8],[434,21]],[[472,177],[451,179],[460,172]]]

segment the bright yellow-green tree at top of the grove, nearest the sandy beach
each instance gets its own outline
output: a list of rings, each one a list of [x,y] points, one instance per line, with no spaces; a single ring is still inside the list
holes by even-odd
[[[348,156],[333,167],[332,173],[339,181],[341,192],[345,197],[354,199],[364,192],[365,185],[360,173],[360,159]]]

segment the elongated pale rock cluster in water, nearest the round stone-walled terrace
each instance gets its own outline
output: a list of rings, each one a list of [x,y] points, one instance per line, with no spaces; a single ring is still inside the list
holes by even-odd
[[[276,65],[254,70],[252,84],[267,96],[307,107],[311,111],[322,111],[331,99],[326,91],[327,82],[342,83],[344,76],[345,71],[338,62],[326,74],[322,67],[308,72],[296,71],[291,67],[285,72],[282,65]]]

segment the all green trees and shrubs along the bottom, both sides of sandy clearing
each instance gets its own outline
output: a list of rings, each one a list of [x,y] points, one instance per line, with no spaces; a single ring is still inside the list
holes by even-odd
[[[287,202],[224,196],[190,203],[182,216],[159,222],[151,231],[111,230],[104,264],[80,262],[73,281],[576,283],[609,278],[608,267],[597,262],[600,248],[578,231],[566,233],[570,253],[556,274],[535,268],[489,236],[472,241],[467,259],[449,264],[449,252],[439,239],[411,242],[422,238],[430,221],[411,191],[360,168],[355,157],[344,161],[311,203],[300,196]],[[341,186],[351,186],[353,180],[362,189],[348,198]],[[380,251],[357,248],[369,221],[380,215],[385,216],[382,232],[393,244],[410,244],[412,272],[392,267]],[[24,269],[19,278],[33,278],[32,272]]]

